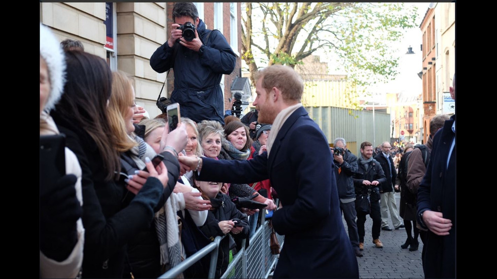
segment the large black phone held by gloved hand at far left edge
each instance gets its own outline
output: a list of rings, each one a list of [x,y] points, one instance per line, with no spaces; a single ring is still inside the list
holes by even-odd
[[[65,175],[65,135],[40,136],[40,195]]]

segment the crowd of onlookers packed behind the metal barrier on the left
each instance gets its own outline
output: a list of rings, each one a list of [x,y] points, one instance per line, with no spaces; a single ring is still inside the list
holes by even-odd
[[[169,131],[164,114],[144,117],[126,73],[78,44],[62,50],[42,24],[40,33],[40,144],[60,131],[66,146],[64,173],[40,153],[40,277],[158,277],[228,234],[219,277],[258,225],[248,216],[276,208],[271,187],[199,181],[180,174],[177,157],[250,160],[265,151],[270,126],[255,147],[238,118],[223,127],[182,117]],[[208,257],[185,277],[206,277]]]

